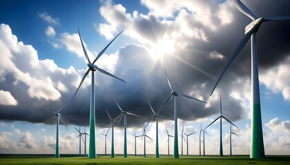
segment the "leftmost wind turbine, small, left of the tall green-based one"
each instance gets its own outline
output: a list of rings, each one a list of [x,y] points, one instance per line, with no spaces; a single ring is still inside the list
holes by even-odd
[[[67,103],[67,102],[66,102]],[[57,112],[53,112],[54,114],[51,115],[49,118],[47,118],[44,122],[57,117],[57,137],[55,140],[55,157],[59,157],[59,120],[61,120],[61,122],[64,124],[64,126],[66,126],[66,123],[64,123],[64,120],[62,120],[61,115],[59,114],[59,111],[61,111],[61,109],[64,108],[64,105],[66,105],[66,103],[64,103]],[[68,130],[68,126],[66,126],[66,129]]]

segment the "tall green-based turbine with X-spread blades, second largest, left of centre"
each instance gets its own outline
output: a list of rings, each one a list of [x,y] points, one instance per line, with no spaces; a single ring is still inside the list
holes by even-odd
[[[79,30],[78,30],[79,32]],[[123,31],[122,31],[123,32]],[[121,34],[120,32],[119,34]],[[119,36],[119,34],[117,36]],[[101,55],[106,51],[108,46],[117,38],[115,38],[106,45],[106,47],[99,52],[93,63],[90,63],[90,58],[88,58],[88,54],[86,52],[86,48],[84,47],[84,43],[81,40],[81,34],[79,33],[79,39],[81,40],[81,47],[83,47],[84,50],[84,55],[86,56],[86,60],[88,61],[88,69],[86,73],[84,74],[83,78],[81,79],[81,83],[79,83],[79,87],[81,87],[82,83],[84,83],[84,80],[86,79],[86,76],[88,76],[88,73],[92,73],[92,83],[91,83],[91,91],[90,91],[90,144],[88,148],[88,157],[89,158],[96,158],[96,141],[95,141],[95,71],[98,70],[102,74],[106,74],[108,76],[111,76],[113,78],[117,78],[113,74],[110,74],[106,72],[104,69],[101,69],[95,65],[95,62],[101,57]],[[122,80],[121,78],[117,78],[118,80]],[[126,81],[122,80],[123,82],[126,83]],[[79,91],[79,87],[77,87],[77,91]],[[75,91],[74,96],[72,97],[72,100],[75,98],[75,95],[77,94],[77,91]],[[72,102],[71,100],[71,102]]]

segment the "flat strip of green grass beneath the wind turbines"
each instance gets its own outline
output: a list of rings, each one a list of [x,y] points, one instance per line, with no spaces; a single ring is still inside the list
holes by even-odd
[[[124,158],[121,155],[109,157],[98,155],[96,159],[88,157],[76,157],[75,155],[63,155],[55,158],[52,155],[0,155],[0,164],[290,164],[290,156],[267,156],[264,159],[249,159],[248,156],[180,156],[180,159],[173,159],[171,156],[155,158],[129,155]]]

